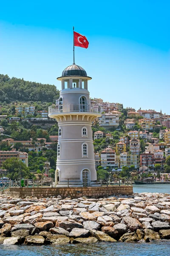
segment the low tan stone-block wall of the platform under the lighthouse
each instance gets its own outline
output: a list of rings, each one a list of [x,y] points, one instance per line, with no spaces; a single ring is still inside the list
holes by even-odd
[[[61,195],[62,198],[71,196],[71,198],[79,198],[87,196],[91,198],[100,198],[110,195],[131,195],[133,186],[99,186],[99,187],[39,187],[39,188],[9,188],[8,195],[17,198],[25,198],[26,196],[36,196],[37,198],[47,198],[51,196]]]

